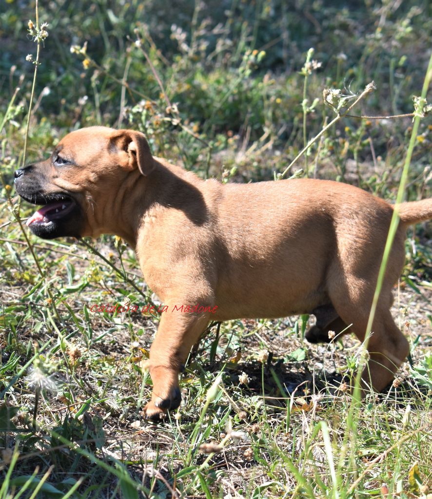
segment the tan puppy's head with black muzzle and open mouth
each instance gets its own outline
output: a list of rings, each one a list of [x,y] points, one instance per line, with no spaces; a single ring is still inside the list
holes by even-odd
[[[152,169],[142,133],[89,127],[66,135],[47,160],[16,170],[14,185],[25,201],[43,205],[26,223],[36,236],[96,237],[118,233],[114,208]]]

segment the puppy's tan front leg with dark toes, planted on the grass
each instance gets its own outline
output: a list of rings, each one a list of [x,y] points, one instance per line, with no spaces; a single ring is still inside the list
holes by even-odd
[[[169,310],[162,312],[156,338],[150,348],[148,369],[153,382],[147,419],[159,419],[181,402],[178,375],[189,352],[209,323],[208,313]]]

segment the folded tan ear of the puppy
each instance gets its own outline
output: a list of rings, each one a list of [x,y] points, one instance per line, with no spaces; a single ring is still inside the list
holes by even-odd
[[[126,153],[124,167],[129,170],[138,168],[144,176],[153,170],[153,156],[144,134],[135,130],[117,130],[111,135],[110,141],[117,150]]]

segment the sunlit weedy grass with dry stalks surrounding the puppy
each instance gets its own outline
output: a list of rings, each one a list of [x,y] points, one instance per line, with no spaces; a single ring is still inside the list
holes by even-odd
[[[231,321],[191,353],[181,407],[154,425],[141,411],[158,318],[140,313],[154,297],[133,250],[106,236],[34,238],[20,222],[31,208],[10,186],[13,170],[64,133],[104,124],[139,129],[153,154],[223,182],[315,176],[390,201],[404,183],[407,199],[431,197],[430,118],[371,118],[414,112],[431,13],[411,0],[350,9],[55,0],[39,4],[36,21],[34,5],[6,2],[0,499],[427,497],[430,225],[407,241],[393,312],[411,362],[386,392],[353,404],[341,380],[356,372],[361,345],[308,344],[308,316]],[[376,90],[348,113],[372,80]],[[139,311],[111,312],[125,299]]]

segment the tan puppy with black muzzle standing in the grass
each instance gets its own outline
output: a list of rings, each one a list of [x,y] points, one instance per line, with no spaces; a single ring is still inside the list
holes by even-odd
[[[348,325],[365,339],[393,208],[323,180],[222,185],[154,158],[144,135],[90,127],[46,161],[15,172],[17,193],[45,205],[28,221],[42,238],[116,234],[133,248],[168,310],[150,349],[147,417],[180,404],[178,373],[210,320],[314,313],[311,341]],[[389,308],[409,224],[432,199],[404,203],[369,340],[364,384],[382,390],[409,352]],[[185,312],[181,305],[206,307]]]

